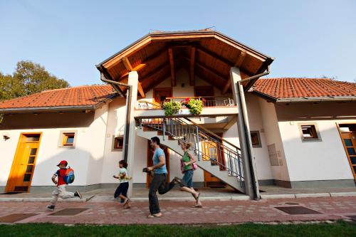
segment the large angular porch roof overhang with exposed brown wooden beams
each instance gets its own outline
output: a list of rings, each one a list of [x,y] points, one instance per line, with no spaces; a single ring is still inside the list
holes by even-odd
[[[169,76],[171,85],[176,85],[175,72],[180,68],[189,71],[190,85],[197,75],[226,93],[231,90],[231,67],[240,68],[244,79],[263,73],[272,62],[270,56],[229,36],[202,30],[149,33],[96,66],[105,78],[122,83],[136,70],[143,94]]]

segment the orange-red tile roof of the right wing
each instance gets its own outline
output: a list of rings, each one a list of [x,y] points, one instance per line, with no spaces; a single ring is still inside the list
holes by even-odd
[[[253,91],[275,99],[356,96],[356,83],[329,78],[268,78],[257,80]]]

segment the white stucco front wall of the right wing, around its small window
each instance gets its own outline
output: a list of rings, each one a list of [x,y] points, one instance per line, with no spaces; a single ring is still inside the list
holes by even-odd
[[[353,179],[336,122],[356,120],[306,120],[316,123],[320,142],[302,142],[298,121],[278,122],[286,153],[290,181]]]

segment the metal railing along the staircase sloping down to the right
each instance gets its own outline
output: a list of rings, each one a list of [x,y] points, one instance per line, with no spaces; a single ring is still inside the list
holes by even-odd
[[[137,118],[137,125],[162,132],[163,139],[175,139],[192,144],[199,161],[211,162],[226,170],[244,186],[241,150],[231,142],[204,129],[187,118]]]

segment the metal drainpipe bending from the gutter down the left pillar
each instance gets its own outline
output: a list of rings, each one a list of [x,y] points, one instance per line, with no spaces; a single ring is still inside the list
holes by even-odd
[[[114,88],[117,93],[121,94],[122,96],[124,96],[121,92],[121,90],[119,90],[119,86],[124,86],[125,88],[127,88],[127,98],[126,98],[126,126],[125,126],[125,144],[124,144],[124,160],[125,162],[127,162],[127,147],[129,146],[129,135],[130,135],[130,130],[128,129],[130,127],[130,107],[131,107],[131,94],[132,94],[132,85],[128,85],[125,83],[119,83],[115,80],[108,80],[105,78],[105,75],[103,73],[101,73],[100,76],[100,80],[102,80],[105,83],[109,83],[110,85],[112,85],[112,88]]]

